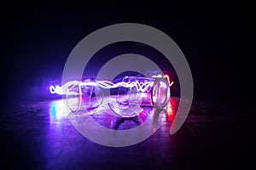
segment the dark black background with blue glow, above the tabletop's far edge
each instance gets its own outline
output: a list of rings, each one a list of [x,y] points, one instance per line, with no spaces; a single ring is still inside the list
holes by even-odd
[[[249,13],[242,4],[7,3],[2,8],[1,87],[6,101],[49,98],[49,83],[61,80],[75,45],[92,31],[124,22],[154,26],[177,42],[192,71],[195,99],[236,104],[245,82],[241,72],[247,63]],[[155,54],[130,43],[112,45],[96,57],[104,64],[127,52],[149,58]],[[178,90],[173,94],[178,96]]]

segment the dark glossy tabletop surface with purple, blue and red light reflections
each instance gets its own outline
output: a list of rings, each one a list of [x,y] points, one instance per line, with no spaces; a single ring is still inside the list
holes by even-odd
[[[98,111],[90,116],[102,127],[156,132],[139,144],[113,148],[96,144],[77,131],[61,100],[20,103],[1,111],[1,167],[19,169],[220,169],[253,163],[253,114],[229,105],[194,102],[177,133],[169,130],[178,99],[154,116],[143,107],[136,117],[120,118]],[[235,113],[236,112],[236,113]],[[88,116],[88,115],[87,115]],[[160,122],[160,127],[154,128]],[[95,132],[97,133],[97,132]],[[3,169],[3,168],[1,168]]]

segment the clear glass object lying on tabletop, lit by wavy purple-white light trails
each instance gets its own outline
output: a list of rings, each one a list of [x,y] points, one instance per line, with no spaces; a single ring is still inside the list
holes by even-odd
[[[82,108],[94,109],[102,105],[104,99],[108,107],[117,115],[123,117],[136,116],[141,105],[156,108],[166,107],[170,97],[173,82],[165,75],[163,77],[123,77],[119,81],[97,81],[93,78],[82,81],[71,81],[60,86],[50,86],[51,94],[64,95],[68,108],[79,111]],[[109,89],[110,94],[103,91]]]

